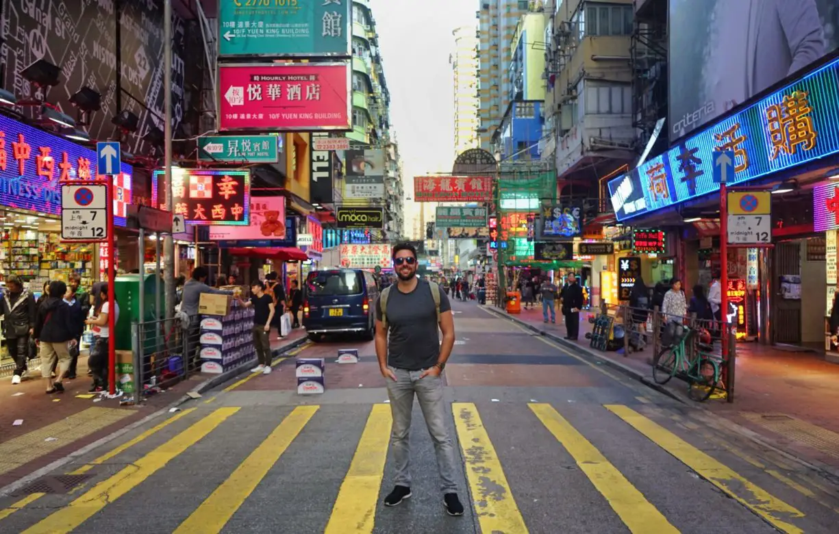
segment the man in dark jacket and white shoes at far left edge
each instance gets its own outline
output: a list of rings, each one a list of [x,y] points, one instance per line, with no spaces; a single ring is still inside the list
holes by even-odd
[[[8,355],[14,360],[12,383],[19,384],[29,359],[29,336],[35,325],[35,298],[23,289],[20,278],[14,275],[6,279],[6,289],[3,300],[0,300],[0,310],[3,310]]]

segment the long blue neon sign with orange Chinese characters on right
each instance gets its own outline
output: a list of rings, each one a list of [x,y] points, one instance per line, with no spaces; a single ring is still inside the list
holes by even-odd
[[[839,153],[839,59],[688,137],[608,183],[618,220],[628,220],[719,189],[712,153],[734,152],[743,184]]]

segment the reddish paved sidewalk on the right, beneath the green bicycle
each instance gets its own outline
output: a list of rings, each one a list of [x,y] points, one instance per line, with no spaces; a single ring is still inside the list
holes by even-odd
[[[816,353],[738,343],[734,402],[697,403],[687,397],[683,381],[672,380],[666,386],[652,381],[651,346],[628,355],[623,350],[591,349],[584,336],[591,331],[588,316],[597,314],[596,311],[581,313],[580,340],[570,341],[564,339],[561,316],[556,324],[545,324],[540,307],[512,315],[498,308],[485,308],[685,402],[685,407],[698,407],[725,417],[754,433],[755,438],[765,439],[770,446],[816,465],[829,466],[839,474],[839,366]]]

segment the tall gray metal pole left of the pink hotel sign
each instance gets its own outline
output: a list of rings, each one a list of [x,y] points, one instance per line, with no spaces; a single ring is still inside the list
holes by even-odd
[[[172,198],[172,0],[163,3],[163,44],[164,44],[164,172],[166,182],[166,205],[169,211],[175,210]],[[160,314],[165,319],[175,315],[175,239],[169,235],[164,244],[164,289],[166,310]],[[160,255],[158,254],[158,258]],[[158,273],[159,276],[159,273]],[[159,292],[158,292],[159,294]]]

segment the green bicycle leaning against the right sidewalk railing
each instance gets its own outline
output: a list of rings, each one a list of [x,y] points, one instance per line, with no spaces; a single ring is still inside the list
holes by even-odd
[[[677,374],[687,381],[688,397],[696,402],[704,402],[715,390],[724,391],[720,386],[722,378],[720,356],[711,354],[711,345],[699,343],[696,358],[688,360],[685,346],[697,334],[696,329],[684,328],[679,341],[664,347],[653,360],[653,381],[664,385]]]

